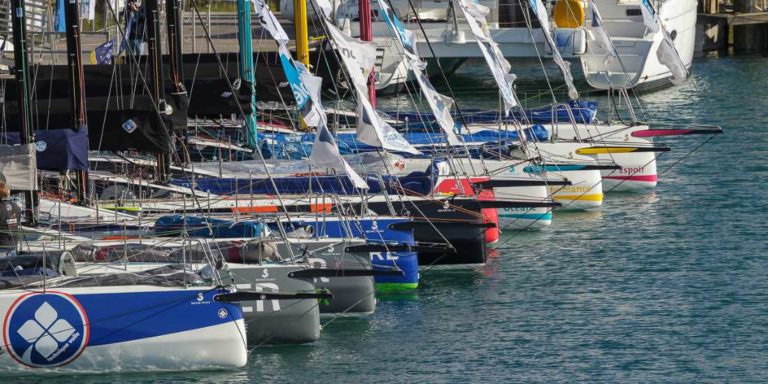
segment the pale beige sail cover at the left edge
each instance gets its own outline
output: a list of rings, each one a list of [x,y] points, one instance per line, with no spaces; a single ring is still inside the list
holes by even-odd
[[[0,145],[0,181],[16,191],[37,189],[35,145]]]

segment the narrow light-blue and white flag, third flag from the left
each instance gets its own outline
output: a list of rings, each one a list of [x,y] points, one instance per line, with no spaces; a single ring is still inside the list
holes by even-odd
[[[398,41],[400,42],[400,47],[405,54],[405,64],[408,69],[413,72],[413,75],[421,88],[421,92],[424,94],[424,98],[427,99],[429,108],[435,115],[435,120],[437,121],[438,126],[445,132],[448,144],[460,145],[461,141],[459,141],[459,138],[453,131],[455,127],[453,117],[451,116],[453,99],[437,92],[435,87],[433,87],[432,83],[429,81],[429,77],[424,74],[424,69],[426,69],[427,64],[419,58],[419,54],[416,51],[413,32],[403,27],[392,9],[387,6],[386,1],[378,0],[378,2],[379,9],[381,10],[379,14],[384,16],[387,25],[389,25],[392,32],[399,37]]]

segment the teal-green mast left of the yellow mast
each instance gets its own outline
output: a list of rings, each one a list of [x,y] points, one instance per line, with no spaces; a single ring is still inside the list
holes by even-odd
[[[251,110],[253,111],[252,113],[243,116],[245,118],[245,136],[248,146],[255,149],[258,145],[256,136],[256,82],[254,81],[253,75],[253,45],[251,43],[251,35],[251,1],[237,0],[237,42],[240,45],[240,78],[251,87]],[[298,46],[297,43],[297,47]]]

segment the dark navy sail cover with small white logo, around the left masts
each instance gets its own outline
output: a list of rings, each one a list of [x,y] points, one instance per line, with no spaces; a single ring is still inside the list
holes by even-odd
[[[0,140],[20,144],[18,132],[0,134]],[[88,129],[48,129],[35,131],[37,169],[45,171],[84,171],[88,169]]]

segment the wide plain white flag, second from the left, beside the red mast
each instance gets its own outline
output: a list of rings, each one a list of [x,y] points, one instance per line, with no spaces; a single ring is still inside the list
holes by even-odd
[[[384,122],[367,96],[366,79],[373,69],[376,49],[372,43],[354,39],[327,20],[324,21],[331,44],[341,57],[341,64],[349,75],[357,96],[357,137],[368,145],[390,151],[420,154],[400,133]]]

